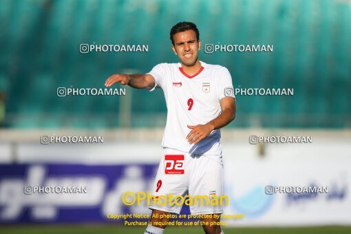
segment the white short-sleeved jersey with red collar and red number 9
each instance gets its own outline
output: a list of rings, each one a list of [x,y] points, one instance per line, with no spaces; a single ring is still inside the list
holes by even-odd
[[[167,124],[162,147],[179,151],[221,155],[220,129],[190,145],[186,137],[187,125],[204,125],[220,115],[220,99],[233,94],[231,74],[226,67],[201,62],[202,68],[193,76],[182,70],[180,63],[160,63],[150,74],[155,78],[155,89],[163,89],[167,103]]]

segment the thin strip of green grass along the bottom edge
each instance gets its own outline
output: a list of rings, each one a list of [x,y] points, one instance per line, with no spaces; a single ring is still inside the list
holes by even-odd
[[[115,225],[19,225],[19,226],[0,226],[1,234],[132,234],[143,233],[144,226],[125,227]],[[317,226],[317,227],[300,227],[300,228],[223,228],[224,233],[243,233],[243,234],[330,234],[330,233],[351,233],[351,226]],[[203,234],[202,227],[184,228],[184,227],[168,227],[166,234]]]

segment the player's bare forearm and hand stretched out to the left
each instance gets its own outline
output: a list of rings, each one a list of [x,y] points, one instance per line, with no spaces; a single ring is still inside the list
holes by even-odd
[[[150,74],[114,74],[105,81],[105,86],[110,87],[114,83],[129,85],[136,89],[145,89],[155,85],[155,79]]]

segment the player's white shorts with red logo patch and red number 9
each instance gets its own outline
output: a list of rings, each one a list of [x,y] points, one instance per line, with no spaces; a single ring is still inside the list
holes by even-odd
[[[193,198],[193,204],[189,204],[191,214],[223,213],[223,206],[220,204],[223,186],[222,156],[204,156],[164,149],[151,191],[152,195],[160,198],[160,203],[151,200],[149,208],[179,214],[182,209],[180,195],[184,197],[189,193]],[[195,204],[195,195],[198,198],[209,198],[210,203],[203,200],[201,204],[198,199]],[[161,202],[160,196],[166,196],[167,202]],[[178,202],[174,200],[175,196],[178,196]],[[213,202],[213,196],[217,196],[217,202]],[[187,200],[187,197],[183,200]]]

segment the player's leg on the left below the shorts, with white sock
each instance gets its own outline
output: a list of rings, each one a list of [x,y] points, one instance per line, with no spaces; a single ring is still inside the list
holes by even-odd
[[[162,234],[167,226],[166,223],[169,222],[169,215],[169,212],[152,210],[150,224],[145,234]]]

